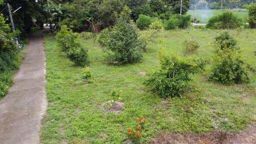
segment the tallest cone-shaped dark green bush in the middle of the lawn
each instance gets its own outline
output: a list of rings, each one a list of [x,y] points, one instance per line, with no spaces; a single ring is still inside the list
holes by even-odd
[[[134,63],[142,58],[138,30],[128,21],[127,18],[119,19],[107,32],[105,58],[108,63],[118,65]]]

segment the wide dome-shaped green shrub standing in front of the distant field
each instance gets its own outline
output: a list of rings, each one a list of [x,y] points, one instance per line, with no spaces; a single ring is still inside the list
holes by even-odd
[[[219,15],[212,16],[206,25],[210,28],[236,28],[242,25],[242,19],[231,11],[224,11]]]

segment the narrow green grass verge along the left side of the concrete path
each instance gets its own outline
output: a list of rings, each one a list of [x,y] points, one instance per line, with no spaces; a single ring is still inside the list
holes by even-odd
[[[13,75],[15,74],[15,70],[18,69],[21,59],[24,55],[24,48],[20,50],[17,55],[12,60],[13,66],[5,71],[0,71],[0,99],[8,92],[8,89],[11,87],[13,83]]]

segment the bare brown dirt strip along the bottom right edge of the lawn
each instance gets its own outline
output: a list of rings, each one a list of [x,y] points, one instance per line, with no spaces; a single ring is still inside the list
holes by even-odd
[[[256,125],[250,125],[241,132],[214,131],[210,133],[166,133],[156,136],[151,144],[181,144],[181,143],[223,143],[223,144],[252,144],[256,143]]]

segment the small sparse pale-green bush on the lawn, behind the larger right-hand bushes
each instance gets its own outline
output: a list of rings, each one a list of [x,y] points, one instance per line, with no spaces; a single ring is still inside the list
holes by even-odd
[[[183,55],[190,55],[199,47],[200,45],[195,40],[185,40],[183,42]]]

